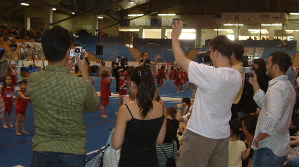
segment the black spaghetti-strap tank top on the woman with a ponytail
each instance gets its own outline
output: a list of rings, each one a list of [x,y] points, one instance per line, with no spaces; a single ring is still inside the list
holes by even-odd
[[[138,164],[145,167],[148,161],[151,161],[149,162],[151,167],[155,165],[158,167],[155,144],[165,118],[164,106],[163,115],[150,120],[135,119],[128,106],[127,108],[132,119],[127,122],[125,141],[121,150],[120,167],[133,167],[133,164],[135,164],[134,167],[139,166]]]

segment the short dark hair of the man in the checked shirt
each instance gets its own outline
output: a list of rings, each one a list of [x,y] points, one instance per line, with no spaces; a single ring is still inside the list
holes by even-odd
[[[270,56],[272,56],[272,66],[274,64],[277,64],[279,66],[279,69],[284,73],[286,73],[292,65],[292,58],[286,52],[276,51],[270,53]]]

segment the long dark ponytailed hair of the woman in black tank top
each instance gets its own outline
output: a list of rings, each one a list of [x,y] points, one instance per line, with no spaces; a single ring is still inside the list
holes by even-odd
[[[152,109],[152,100],[155,93],[154,77],[147,66],[136,67],[131,74],[131,81],[138,86],[136,101],[140,107],[140,115],[145,118]]]

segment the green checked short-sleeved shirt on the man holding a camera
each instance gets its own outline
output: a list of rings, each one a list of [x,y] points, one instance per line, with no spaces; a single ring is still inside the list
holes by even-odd
[[[86,155],[83,107],[100,105],[90,81],[65,66],[48,65],[28,77],[26,93],[34,109],[32,151]]]

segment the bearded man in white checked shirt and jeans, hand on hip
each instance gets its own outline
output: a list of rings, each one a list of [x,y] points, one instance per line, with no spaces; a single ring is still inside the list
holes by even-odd
[[[289,127],[296,93],[286,72],[291,65],[291,56],[282,51],[270,54],[267,65],[269,81],[265,94],[257,82],[257,76],[249,81],[255,95],[253,99],[261,108],[254,143],[252,167],[283,167],[290,153]]]

